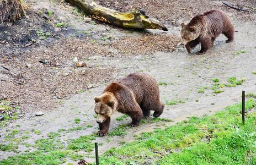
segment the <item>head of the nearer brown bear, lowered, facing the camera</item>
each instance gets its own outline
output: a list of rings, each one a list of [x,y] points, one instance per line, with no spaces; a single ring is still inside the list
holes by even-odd
[[[105,92],[99,97],[94,97],[94,111],[97,114],[97,123],[105,122],[117,109],[118,101],[112,92]]]

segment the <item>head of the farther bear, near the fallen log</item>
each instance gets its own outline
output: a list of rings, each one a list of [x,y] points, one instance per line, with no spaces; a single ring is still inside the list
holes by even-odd
[[[189,26],[182,23],[182,30],[180,30],[180,35],[182,36],[182,43],[186,43],[195,40],[199,37],[199,30],[195,26]]]

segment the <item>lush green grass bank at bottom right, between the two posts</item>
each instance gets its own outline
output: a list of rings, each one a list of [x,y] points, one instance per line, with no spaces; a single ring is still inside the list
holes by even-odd
[[[246,102],[246,111],[255,100]],[[256,113],[241,124],[241,103],[212,116],[190,117],[164,130],[135,136],[100,156],[101,164],[244,164],[256,162]]]

